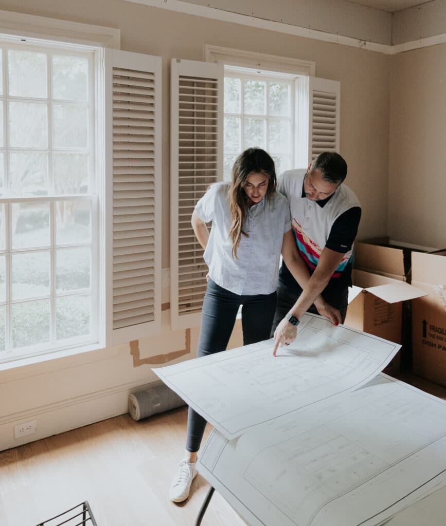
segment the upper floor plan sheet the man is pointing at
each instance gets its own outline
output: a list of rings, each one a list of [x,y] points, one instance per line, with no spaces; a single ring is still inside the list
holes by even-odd
[[[325,318],[302,317],[298,337],[272,356],[273,340],[153,369],[232,439],[319,400],[364,385],[400,345]]]

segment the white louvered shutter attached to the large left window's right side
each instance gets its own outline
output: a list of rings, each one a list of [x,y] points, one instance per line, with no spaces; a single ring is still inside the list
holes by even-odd
[[[112,345],[161,329],[161,58],[105,55],[106,316]]]

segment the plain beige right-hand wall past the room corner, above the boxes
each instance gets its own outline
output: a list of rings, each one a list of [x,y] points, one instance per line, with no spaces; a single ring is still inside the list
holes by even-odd
[[[389,235],[446,247],[446,44],[392,57]]]

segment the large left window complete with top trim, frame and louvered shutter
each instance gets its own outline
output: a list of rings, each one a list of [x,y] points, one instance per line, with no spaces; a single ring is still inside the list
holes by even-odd
[[[0,363],[161,330],[161,57],[3,13]],[[21,35],[15,35],[21,27]]]

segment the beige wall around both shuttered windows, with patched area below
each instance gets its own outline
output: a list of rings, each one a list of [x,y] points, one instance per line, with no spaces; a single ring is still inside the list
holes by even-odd
[[[348,184],[363,204],[360,235],[386,234],[390,56],[123,0],[0,0],[0,9],[115,27],[122,49],[163,57],[163,267],[169,267],[170,59],[202,60],[205,44],[314,60],[317,76],[340,80],[341,153]],[[142,340],[146,356],[165,352],[167,341],[171,351],[182,350],[181,335],[170,331],[169,311],[164,315],[163,349],[156,339]],[[197,332],[191,353],[181,359],[194,355]],[[15,423],[38,420],[38,434],[22,441],[85,425],[125,412],[128,392],[153,380],[150,364],[135,365],[128,345],[2,371],[0,450],[21,443],[13,439]]]

